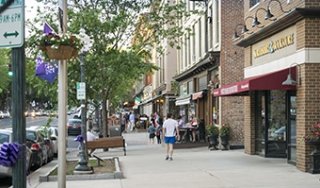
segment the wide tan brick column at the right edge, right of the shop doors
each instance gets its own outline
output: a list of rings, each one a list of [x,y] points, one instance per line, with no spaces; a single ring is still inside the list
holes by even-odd
[[[302,64],[297,84],[297,168],[309,171],[313,147],[304,142],[310,129],[320,121],[320,63]]]

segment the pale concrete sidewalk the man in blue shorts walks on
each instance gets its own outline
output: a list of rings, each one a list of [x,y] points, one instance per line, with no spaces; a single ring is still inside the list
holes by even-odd
[[[123,179],[68,181],[67,187],[109,188],[319,188],[320,175],[304,173],[285,159],[244,154],[243,150],[209,151],[207,147],[176,149],[173,161],[165,161],[162,145],[147,143],[147,133],[124,135],[127,156],[122,150],[98,152],[119,156]],[[68,157],[70,157],[68,155]],[[37,188],[57,188],[57,182]]]

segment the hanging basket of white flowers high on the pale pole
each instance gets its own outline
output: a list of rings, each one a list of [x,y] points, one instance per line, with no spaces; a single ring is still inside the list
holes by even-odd
[[[43,34],[38,37],[37,45],[45,58],[56,60],[74,58],[83,47],[81,40],[74,35],[57,35],[53,33]]]

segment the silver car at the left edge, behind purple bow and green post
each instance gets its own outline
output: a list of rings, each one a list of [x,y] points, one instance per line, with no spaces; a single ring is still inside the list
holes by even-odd
[[[12,143],[12,129],[0,129],[0,147],[3,143],[9,142]],[[30,160],[31,160],[32,151],[26,147],[26,171],[28,172],[30,169]],[[3,177],[11,177],[12,176],[12,168],[5,167],[0,165],[0,178]]]

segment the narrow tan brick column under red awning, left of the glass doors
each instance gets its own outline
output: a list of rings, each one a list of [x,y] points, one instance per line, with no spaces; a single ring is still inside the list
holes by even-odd
[[[255,97],[251,93],[248,97],[244,97],[244,148],[245,153],[255,154]]]

